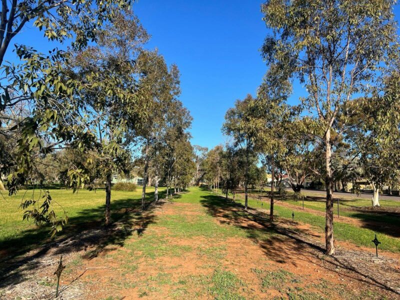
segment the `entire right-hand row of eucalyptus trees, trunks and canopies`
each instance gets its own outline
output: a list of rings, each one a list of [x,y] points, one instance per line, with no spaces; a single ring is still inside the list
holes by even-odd
[[[360,179],[378,206],[383,186],[400,184],[399,45],[392,0],[267,0],[267,71],[256,97],[237,100],[222,131],[231,137],[205,159],[205,178],[233,193],[283,176],[295,196],[305,180],[326,188],[326,253],[334,253],[333,191]],[[293,83],[305,96],[292,106]],[[221,187],[221,185],[219,185]]]

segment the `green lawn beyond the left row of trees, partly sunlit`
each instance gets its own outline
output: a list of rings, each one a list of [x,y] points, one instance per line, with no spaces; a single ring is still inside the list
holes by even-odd
[[[161,195],[165,188],[160,188]],[[68,224],[55,238],[81,230],[101,226],[104,218],[104,189],[78,190],[50,189],[53,208],[62,215],[63,209],[68,216]],[[146,200],[151,201],[154,188],[146,188]],[[0,198],[0,250],[17,248],[26,251],[49,240],[47,226],[36,227],[31,221],[22,220],[23,209],[19,208],[22,198],[39,198],[39,191],[20,190],[16,195],[8,196],[2,193]],[[116,221],[123,217],[123,209],[138,205],[141,198],[141,188],[136,191],[111,190],[111,218]]]

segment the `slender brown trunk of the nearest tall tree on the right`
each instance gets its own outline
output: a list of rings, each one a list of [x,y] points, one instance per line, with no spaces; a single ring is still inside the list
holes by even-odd
[[[325,247],[326,254],[334,254],[333,244],[333,176],[331,169],[331,144],[330,144],[330,128],[327,129],[325,135],[325,169],[326,169],[326,215],[325,215]]]

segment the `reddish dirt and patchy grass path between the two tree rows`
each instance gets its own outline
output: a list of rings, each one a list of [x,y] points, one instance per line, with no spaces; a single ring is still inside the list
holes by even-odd
[[[71,238],[54,246],[30,260],[17,281],[9,277],[0,297],[51,298],[53,272],[65,253],[62,299],[398,298],[395,259],[347,249],[326,257],[309,227],[270,224],[262,211],[245,213],[205,191],[185,202],[189,195],[154,207],[151,224],[138,218],[118,244],[66,253],[76,242]]]

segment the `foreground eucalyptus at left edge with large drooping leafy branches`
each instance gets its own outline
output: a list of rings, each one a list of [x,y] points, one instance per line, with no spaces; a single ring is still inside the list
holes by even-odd
[[[85,130],[79,116],[80,101],[74,97],[78,82],[63,74],[68,63],[68,51],[54,48],[54,42],[83,49],[95,42],[96,32],[112,20],[114,10],[127,8],[130,1],[70,1],[70,0],[13,0],[1,1],[0,13],[0,67],[3,70],[0,85],[0,135],[17,144],[12,155],[2,156],[0,176],[10,194],[31,181],[38,157],[57,147],[90,143],[93,138]],[[49,40],[49,53],[43,54],[32,45],[14,44],[12,40],[22,30],[43,32]],[[53,49],[54,48],[54,49]],[[12,58],[11,58],[12,57]],[[5,59],[17,61],[9,63]],[[27,113],[16,116],[22,106]],[[6,150],[1,149],[0,152]],[[33,218],[36,224],[51,222],[52,232],[59,230],[64,219],[57,219],[50,208],[51,197],[26,199],[24,218]],[[28,209],[29,207],[29,209]]]

